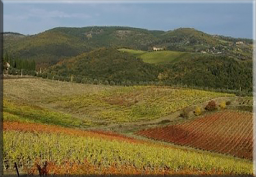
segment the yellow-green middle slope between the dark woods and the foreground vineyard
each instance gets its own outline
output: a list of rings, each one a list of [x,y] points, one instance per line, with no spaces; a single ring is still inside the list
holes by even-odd
[[[104,122],[153,120],[218,96],[232,96],[170,87],[111,87],[38,78],[4,80],[4,90],[4,112],[8,115],[5,119],[16,115],[33,120],[34,116],[36,122],[57,124],[57,118],[69,124],[67,117],[70,117],[76,126],[82,126],[83,122],[93,126]],[[26,110],[22,114],[21,108]],[[46,116],[45,119],[38,115],[39,112]]]

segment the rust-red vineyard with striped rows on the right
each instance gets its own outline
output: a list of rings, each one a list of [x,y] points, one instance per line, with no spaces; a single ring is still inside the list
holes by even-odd
[[[252,159],[252,125],[252,113],[222,111],[183,124],[142,130],[137,135]]]

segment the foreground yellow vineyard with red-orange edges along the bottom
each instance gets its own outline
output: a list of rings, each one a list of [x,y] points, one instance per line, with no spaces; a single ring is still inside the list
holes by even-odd
[[[4,122],[4,168],[38,174],[252,174],[252,162],[104,132]]]

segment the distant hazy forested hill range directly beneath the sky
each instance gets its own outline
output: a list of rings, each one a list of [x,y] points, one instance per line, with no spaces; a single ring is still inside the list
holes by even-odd
[[[171,51],[221,53],[238,60],[252,59],[252,40],[209,35],[191,28],[171,31],[121,26],[54,28],[37,35],[4,35],[4,51],[38,66],[54,65],[99,47],[150,51],[160,47]]]

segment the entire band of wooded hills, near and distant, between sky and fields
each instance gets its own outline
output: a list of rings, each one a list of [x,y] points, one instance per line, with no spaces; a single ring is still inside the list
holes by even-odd
[[[153,51],[153,47],[163,51]],[[4,34],[8,56],[33,60],[44,78],[119,85],[164,84],[252,92],[252,40],[121,26]],[[18,68],[17,68],[18,69]],[[13,71],[13,73],[20,73]],[[85,82],[88,82],[85,81]]]

